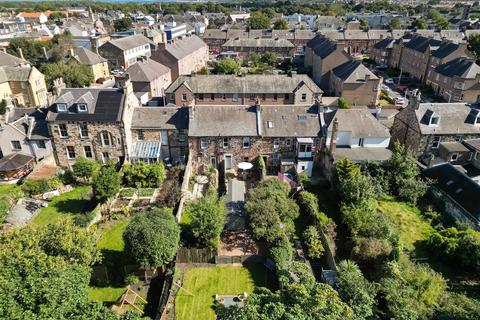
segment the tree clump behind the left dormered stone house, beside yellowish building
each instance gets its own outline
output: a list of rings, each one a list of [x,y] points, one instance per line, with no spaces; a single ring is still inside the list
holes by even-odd
[[[77,62],[45,63],[40,67],[45,75],[45,81],[49,87],[53,80],[62,77],[69,88],[82,88],[93,82],[93,73],[89,66]]]

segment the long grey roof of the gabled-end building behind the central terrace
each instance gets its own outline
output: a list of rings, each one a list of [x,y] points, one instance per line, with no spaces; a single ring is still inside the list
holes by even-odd
[[[174,93],[184,83],[194,93],[292,93],[302,84],[315,93],[323,92],[307,75],[258,74],[180,76],[167,88],[166,93]]]

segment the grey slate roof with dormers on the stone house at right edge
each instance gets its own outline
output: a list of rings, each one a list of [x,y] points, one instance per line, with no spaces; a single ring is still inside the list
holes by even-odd
[[[410,112],[411,107],[400,111]],[[468,103],[420,103],[414,110],[416,120],[422,134],[479,134],[480,126],[473,124],[473,114],[478,112],[478,106]],[[440,116],[438,126],[428,125],[428,115],[435,113]]]

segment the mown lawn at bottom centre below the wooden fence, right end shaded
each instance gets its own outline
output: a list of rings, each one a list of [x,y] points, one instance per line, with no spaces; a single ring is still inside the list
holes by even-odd
[[[175,298],[177,320],[214,319],[215,294],[250,294],[255,286],[268,286],[268,276],[273,276],[261,264],[190,268],[184,272],[185,290],[180,289]]]

